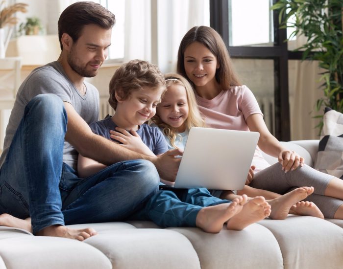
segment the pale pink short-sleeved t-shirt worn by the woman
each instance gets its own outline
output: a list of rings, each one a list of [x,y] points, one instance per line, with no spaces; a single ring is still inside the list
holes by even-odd
[[[245,85],[222,90],[215,98],[208,100],[197,96],[200,111],[206,117],[206,126],[218,129],[249,131],[246,118],[252,114],[262,114],[255,96]],[[257,147],[252,165],[255,172],[270,166]]]

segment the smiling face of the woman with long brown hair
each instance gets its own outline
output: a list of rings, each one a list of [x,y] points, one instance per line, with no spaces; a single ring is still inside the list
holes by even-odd
[[[184,66],[188,78],[196,87],[216,84],[217,57],[201,43],[193,42],[185,49]]]

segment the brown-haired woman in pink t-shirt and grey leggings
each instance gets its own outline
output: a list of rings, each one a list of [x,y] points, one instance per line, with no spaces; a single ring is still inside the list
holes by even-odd
[[[225,44],[214,29],[196,26],[186,33],[179,46],[177,71],[192,84],[209,127],[260,133],[253,160],[257,173],[249,186],[279,194],[297,186],[314,186],[307,200],[315,202],[325,218],[343,219],[343,180],[305,165],[302,157],[283,148],[270,134],[255,97],[238,81]],[[270,166],[259,148],[278,157],[279,163]],[[254,188],[241,194],[261,194]]]

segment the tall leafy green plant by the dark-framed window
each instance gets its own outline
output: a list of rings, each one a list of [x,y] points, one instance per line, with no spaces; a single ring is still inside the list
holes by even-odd
[[[271,9],[279,10],[281,27],[294,27],[291,36],[307,38],[296,49],[304,50],[302,59],[317,60],[324,69],[324,97],[317,100],[317,111],[330,107],[343,112],[343,0],[278,0]],[[317,127],[321,130],[322,120]]]

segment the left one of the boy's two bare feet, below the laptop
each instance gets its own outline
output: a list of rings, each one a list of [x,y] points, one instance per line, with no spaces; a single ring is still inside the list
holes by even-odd
[[[247,197],[243,195],[230,203],[221,203],[201,208],[196,215],[196,227],[208,233],[219,233],[223,224],[239,213],[246,201]]]

